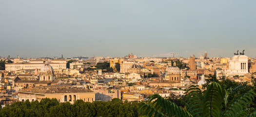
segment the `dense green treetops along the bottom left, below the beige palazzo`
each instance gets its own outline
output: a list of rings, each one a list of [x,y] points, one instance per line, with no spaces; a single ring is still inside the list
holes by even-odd
[[[56,98],[43,98],[41,101],[15,102],[0,110],[0,117],[138,117],[138,102],[112,101],[84,102],[77,100],[59,103]]]

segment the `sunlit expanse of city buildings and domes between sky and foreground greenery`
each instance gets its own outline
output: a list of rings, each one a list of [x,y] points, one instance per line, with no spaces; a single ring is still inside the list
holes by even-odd
[[[234,53],[232,58],[200,57],[138,58],[76,57],[21,59],[1,58],[1,106],[26,100],[56,98],[58,102],[146,101],[152,94],[162,98],[183,97],[185,89],[198,85],[205,90],[207,79],[252,82],[256,60]]]

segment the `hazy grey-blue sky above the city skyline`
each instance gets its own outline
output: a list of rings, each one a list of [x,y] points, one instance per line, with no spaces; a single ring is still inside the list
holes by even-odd
[[[256,57],[256,0],[0,0],[0,57]],[[239,53],[238,52],[238,53]]]

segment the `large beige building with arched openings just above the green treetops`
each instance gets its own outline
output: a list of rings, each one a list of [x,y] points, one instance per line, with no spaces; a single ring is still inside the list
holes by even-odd
[[[18,91],[20,101],[40,101],[42,98],[56,98],[59,102],[74,103],[77,99],[85,102],[95,101],[95,92],[70,86],[41,86]]]

